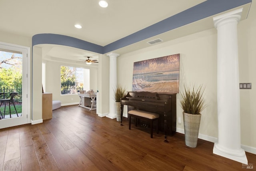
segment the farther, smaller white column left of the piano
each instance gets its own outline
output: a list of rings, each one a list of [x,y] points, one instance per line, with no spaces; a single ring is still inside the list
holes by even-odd
[[[115,110],[115,98],[113,89],[117,85],[117,67],[116,67],[116,58],[119,54],[109,53],[109,113],[106,117],[110,119],[116,118]]]

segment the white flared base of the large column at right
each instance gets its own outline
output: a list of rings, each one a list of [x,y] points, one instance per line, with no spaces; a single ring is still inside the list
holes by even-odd
[[[245,155],[244,149],[240,149],[239,151],[234,152],[234,151],[230,151],[228,149],[223,149],[222,147],[220,147],[218,145],[218,143],[214,143],[213,153],[216,155],[220,155],[222,157],[226,157],[228,159],[238,161],[240,163],[244,163],[244,164],[248,165],[248,160]]]

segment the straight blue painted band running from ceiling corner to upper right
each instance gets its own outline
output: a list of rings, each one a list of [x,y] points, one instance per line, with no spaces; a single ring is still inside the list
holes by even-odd
[[[207,0],[201,4],[193,6],[192,8],[184,10],[183,12],[144,28],[143,30],[130,34],[129,36],[104,46],[104,53],[123,48],[130,44],[134,44],[158,34],[168,32],[181,26],[185,26],[186,24],[196,22],[203,18],[213,16],[220,12],[248,4],[250,2],[252,2],[252,0]]]

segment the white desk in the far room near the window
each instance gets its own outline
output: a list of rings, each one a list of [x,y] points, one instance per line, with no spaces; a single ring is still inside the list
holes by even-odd
[[[80,97],[80,103],[78,106],[84,107],[89,110],[96,110],[96,103],[94,103],[96,98],[96,93],[93,95],[78,93]]]

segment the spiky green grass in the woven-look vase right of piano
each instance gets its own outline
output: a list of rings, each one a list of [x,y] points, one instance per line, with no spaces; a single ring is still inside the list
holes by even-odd
[[[202,85],[184,85],[184,92],[181,95],[181,107],[185,113],[200,114],[206,107],[204,101],[204,89]]]

